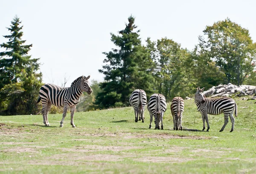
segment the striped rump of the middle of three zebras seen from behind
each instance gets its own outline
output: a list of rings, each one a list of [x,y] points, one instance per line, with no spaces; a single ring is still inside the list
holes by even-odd
[[[167,109],[166,99],[162,94],[153,94],[148,101],[148,111],[159,114]]]

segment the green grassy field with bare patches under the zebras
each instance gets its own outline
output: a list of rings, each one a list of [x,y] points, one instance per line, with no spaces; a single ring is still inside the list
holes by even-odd
[[[193,100],[185,101],[183,131],[173,131],[170,104],[164,130],[134,122],[132,107],[61,114],[0,116],[0,173],[256,173],[256,104],[236,101],[238,117],[223,132],[224,115],[209,116],[209,132]]]

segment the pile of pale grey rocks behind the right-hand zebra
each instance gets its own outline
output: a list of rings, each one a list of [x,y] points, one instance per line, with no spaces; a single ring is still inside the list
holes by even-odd
[[[206,97],[229,97],[235,95],[237,97],[252,96],[256,93],[256,86],[251,85],[233,85],[220,84],[217,87],[212,87],[207,91],[204,91],[204,96]]]

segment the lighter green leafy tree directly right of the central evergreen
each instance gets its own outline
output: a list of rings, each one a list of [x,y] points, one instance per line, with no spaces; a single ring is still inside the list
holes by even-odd
[[[167,101],[175,96],[188,96],[195,86],[189,64],[190,53],[167,38],[157,40],[157,52],[160,67],[155,75],[158,93],[162,93]]]

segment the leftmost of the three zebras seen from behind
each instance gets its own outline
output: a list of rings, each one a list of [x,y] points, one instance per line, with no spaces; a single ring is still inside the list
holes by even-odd
[[[144,123],[144,119],[145,119],[144,110],[145,110],[145,106],[147,104],[147,96],[146,96],[145,91],[141,90],[141,89],[134,90],[131,93],[129,101],[130,101],[130,104],[134,108],[135,122],[138,122],[138,117],[140,116],[140,119]],[[140,121],[140,119],[139,119],[139,121]]]

